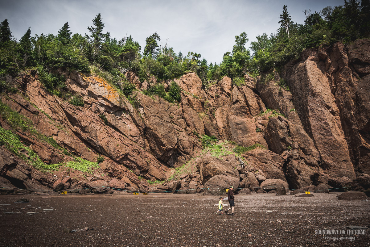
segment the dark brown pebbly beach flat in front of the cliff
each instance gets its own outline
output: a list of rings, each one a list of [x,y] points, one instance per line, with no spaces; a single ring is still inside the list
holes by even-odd
[[[338,194],[236,195],[235,217],[216,215],[218,197],[201,194],[0,196],[0,243],[4,247],[369,246],[369,230],[347,234],[347,227],[369,226],[370,201],[337,200]],[[14,203],[20,198],[30,202]],[[76,231],[65,233],[66,228]],[[342,234],[320,234],[325,229]]]

